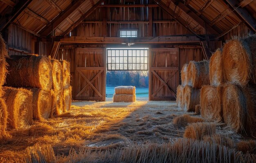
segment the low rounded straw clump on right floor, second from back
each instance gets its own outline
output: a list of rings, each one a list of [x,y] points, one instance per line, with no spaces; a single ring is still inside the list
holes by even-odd
[[[205,135],[213,135],[216,132],[216,126],[213,123],[191,123],[186,126],[183,137],[202,140]]]

